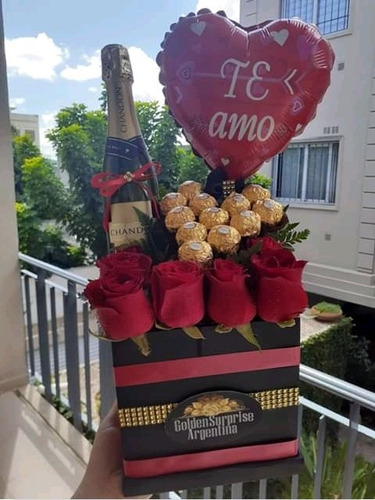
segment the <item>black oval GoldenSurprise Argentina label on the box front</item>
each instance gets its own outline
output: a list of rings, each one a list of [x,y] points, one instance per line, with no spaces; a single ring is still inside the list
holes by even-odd
[[[193,396],[168,416],[167,435],[183,443],[224,445],[253,431],[262,409],[241,392],[217,391]]]

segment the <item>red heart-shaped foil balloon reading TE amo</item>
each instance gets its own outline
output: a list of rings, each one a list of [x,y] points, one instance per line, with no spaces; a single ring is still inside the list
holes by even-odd
[[[157,62],[166,102],[194,151],[246,178],[314,118],[334,53],[298,19],[245,29],[205,10],[180,18]]]

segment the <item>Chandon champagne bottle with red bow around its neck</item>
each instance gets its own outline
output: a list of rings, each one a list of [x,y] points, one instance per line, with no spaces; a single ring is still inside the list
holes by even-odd
[[[131,175],[149,163],[150,155],[142,137],[133,101],[133,73],[129,53],[122,45],[102,49],[102,78],[107,90],[108,137],[103,170],[112,174]],[[152,169],[152,167],[151,167]],[[145,228],[135,210],[152,216],[148,193],[157,194],[157,180],[128,182],[111,196],[108,239],[113,251],[132,246],[145,238]]]

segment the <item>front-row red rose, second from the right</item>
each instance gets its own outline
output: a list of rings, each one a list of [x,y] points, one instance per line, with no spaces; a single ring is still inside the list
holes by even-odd
[[[255,304],[246,286],[243,266],[231,260],[215,259],[213,269],[207,272],[207,279],[207,310],[213,321],[237,326],[254,318]]]

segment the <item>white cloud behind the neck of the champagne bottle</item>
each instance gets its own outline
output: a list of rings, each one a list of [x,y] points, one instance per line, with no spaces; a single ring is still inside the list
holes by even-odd
[[[133,93],[138,101],[164,102],[162,87],[159,83],[159,67],[144,50],[139,47],[129,48],[130,61],[134,74]],[[67,80],[83,82],[101,78],[100,52],[84,56],[86,64],[67,66],[60,75]],[[97,92],[97,87],[89,87],[90,92]]]

